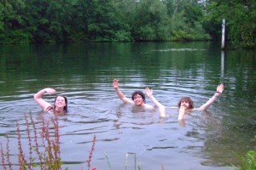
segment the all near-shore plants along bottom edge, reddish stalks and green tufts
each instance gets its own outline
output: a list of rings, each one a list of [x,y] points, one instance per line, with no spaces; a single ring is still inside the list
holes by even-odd
[[[5,149],[3,143],[0,143],[0,155],[1,155],[1,164],[3,170],[12,170],[15,167],[19,169],[61,169],[61,143],[60,143],[60,133],[59,133],[59,123],[57,117],[52,118],[51,120],[43,120],[42,125],[38,127],[38,124],[33,121],[32,114],[29,116],[25,115],[26,120],[26,129],[21,130],[19,122],[16,123],[17,133],[17,146],[19,153],[17,154],[17,160],[13,162],[10,156],[14,156],[14,153],[11,153],[9,147],[9,136],[6,136],[7,142]],[[37,125],[36,125],[37,124]],[[27,139],[28,149],[22,141]],[[87,160],[84,162],[87,164],[87,167],[81,167],[82,170],[96,170],[96,167],[91,166],[91,161],[93,159],[94,150],[96,147],[96,135],[92,139],[92,144],[90,148],[90,153]],[[4,151],[5,150],[5,151]],[[134,155],[134,168],[135,170],[142,170],[142,166],[137,164],[136,153]],[[104,154],[106,161],[108,162],[108,169],[113,170],[111,167],[111,162],[108,160],[108,156]],[[230,165],[231,169],[240,169],[240,170],[254,170],[256,168],[256,151],[249,150],[245,156],[239,156],[241,160],[240,165]],[[128,167],[128,153],[125,155],[125,170]],[[68,167],[65,168],[66,170]],[[161,170],[164,170],[164,165],[160,166]]]

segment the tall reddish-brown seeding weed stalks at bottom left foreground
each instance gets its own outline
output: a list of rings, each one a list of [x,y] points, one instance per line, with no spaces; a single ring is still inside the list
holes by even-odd
[[[18,165],[20,170],[32,170],[34,168],[42,170],[61,170],[61,147],[60,147],[60,133],[59,123],[57,117],[48,121],[43,119],[42,126],[37,127],[32,119],[32,114],[25,115],[26,130],[21,133],[20,123],[16,122],[16,139],[18,145],[17,162],[10,161],[9,136],[7,135],[6,151],[3,151],[3,144],[0,144],[0,154],[3,170],[16,169]],[[22,132],[23,132],[22,131]],[[22,143],[27,139],[28,153],[26,145]],[[87,162],[88,170],[90,169],[90,162],[95,150],[96,136],[93,138],[93,144],[90,150],[90,155]],[[68,168],[66,168],[68,169]],[[93,168],[96,170],[96,168]]]

